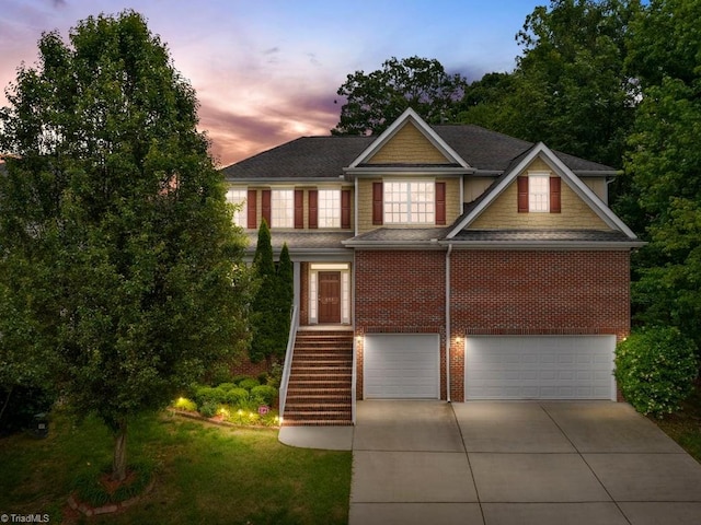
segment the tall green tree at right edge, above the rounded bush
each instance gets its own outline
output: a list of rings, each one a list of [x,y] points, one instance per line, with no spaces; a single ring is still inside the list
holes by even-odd
[[[625,166],[650,245],[635,258],[633,302],[647,324],[701,347],[701,3],[653,0],[631,24],[628,68],[642,89]]]

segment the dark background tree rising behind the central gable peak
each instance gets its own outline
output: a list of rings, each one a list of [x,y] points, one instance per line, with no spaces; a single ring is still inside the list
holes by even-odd
[[[369,74],[348,74],[336,92],[346,103],[331,132],[378,135],[407,107],[429,124],[452,121],[466,85],[460,74],[448,74],[436,59],[392,57]]]

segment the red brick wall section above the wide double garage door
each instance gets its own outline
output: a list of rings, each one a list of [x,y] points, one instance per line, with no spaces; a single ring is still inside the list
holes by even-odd
[[[629,334],[628,252],[455,250],[451,395],[464,399],[457,337]]]

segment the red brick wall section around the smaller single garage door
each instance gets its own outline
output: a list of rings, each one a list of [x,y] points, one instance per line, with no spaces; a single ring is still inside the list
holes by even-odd
[[[363,334],[440,334],[445,398],[445,252],[356,250],[355,325]],[[357,396],[363,396],[363,341],[356,339]]]

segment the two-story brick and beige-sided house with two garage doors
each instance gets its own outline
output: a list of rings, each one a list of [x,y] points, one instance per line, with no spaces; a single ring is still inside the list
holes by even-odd
[[[607,205],[613,168],[407,109],[379,137],[304,137],[223,174],[251,250],[263,219],[289,246],[297,337],[345,328],[354,399],[617,398],[642,243]],[[326,358],[317,377],[292,365],[288,421],[349,400],[324,401]]]

